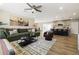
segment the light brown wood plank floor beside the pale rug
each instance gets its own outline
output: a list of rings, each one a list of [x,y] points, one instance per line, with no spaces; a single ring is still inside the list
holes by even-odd
[[[54,46],[48,51],[48,55],[75,55],[78,54],[77,36],[58,36],[54,38],[57,40]]]

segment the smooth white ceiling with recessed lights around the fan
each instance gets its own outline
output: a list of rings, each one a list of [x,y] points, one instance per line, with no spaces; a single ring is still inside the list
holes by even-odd
[[[61,19],[79,19],[79,4],[78,3],[32,3],[35,5],[42,5],[42,12],[24,11],[24,8],[29,8],[26,3],[5,3],[0,6],[0,9],[9,11],[16,15],[24,17],[33,17],[36,20],[61,20]],[[60,10],[59,7],[63,7]],[[73,13],[76,13],[74,16]]]

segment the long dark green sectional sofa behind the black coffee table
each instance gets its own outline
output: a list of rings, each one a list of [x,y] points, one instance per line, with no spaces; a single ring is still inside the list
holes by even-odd
[[[40,36],[40,31],[36,31],[36,32],[28,32],[28,31],[25,31],[25,29],[20,29],[20,31],[18,32],[17,30],[17,33],[14,33],[14,34],[11,34],[9,33],[9,30],[3,30],[0,32],[1,33],[1,37],[4,37],[4,38],[7,38],[7,40],[9,42],[12,42],[12,41],[15,41],[15,40],[19,40],[21,37],[38,37]]]

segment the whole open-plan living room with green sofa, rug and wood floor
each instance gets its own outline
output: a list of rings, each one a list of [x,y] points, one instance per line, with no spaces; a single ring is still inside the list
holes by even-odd
[[[4,3],[0,6],[0,54],[78,55],[77,6]]]

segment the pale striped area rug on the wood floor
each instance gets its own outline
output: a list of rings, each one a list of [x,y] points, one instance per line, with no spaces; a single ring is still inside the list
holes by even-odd
[[[46,55],[50,48],[54,45],[56,39],[52,41],[47,41],[44,38],[38,39],[37,42],[34,42],[28,46],[23,47],[31,55]]]

